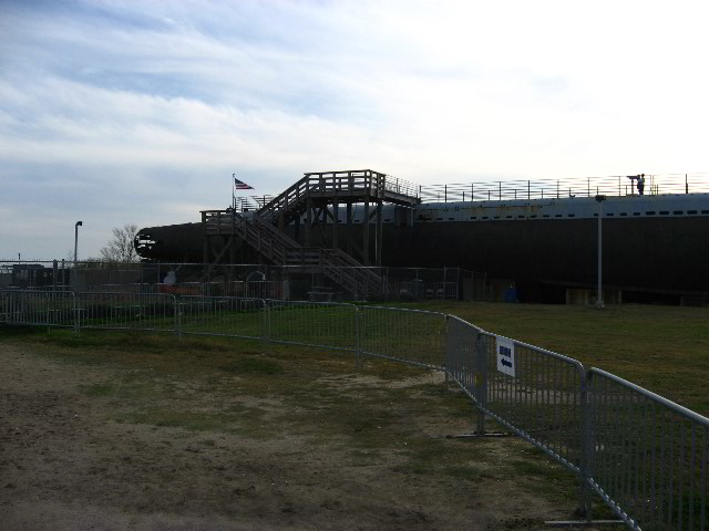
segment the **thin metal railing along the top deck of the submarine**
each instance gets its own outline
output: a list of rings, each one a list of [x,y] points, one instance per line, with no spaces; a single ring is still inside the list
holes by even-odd
[[[577,179],[497,180],[487,183],[421,186],[423,202],[561,199],[597,195],[638,195],[637,175],[583,177]],[[644,194],[709,194],[709,174],[645,175]]]

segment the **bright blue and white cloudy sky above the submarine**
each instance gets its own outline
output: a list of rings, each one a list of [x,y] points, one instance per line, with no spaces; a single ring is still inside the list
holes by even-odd
[[[709,171],[705,1],[0,0],[0,260],[307,171]]]

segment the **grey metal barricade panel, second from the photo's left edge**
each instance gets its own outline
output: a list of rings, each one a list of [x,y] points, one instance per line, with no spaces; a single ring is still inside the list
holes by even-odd
[[[82,329],[171,332],[175,306],[162,293],[78,293],[76,319]]]

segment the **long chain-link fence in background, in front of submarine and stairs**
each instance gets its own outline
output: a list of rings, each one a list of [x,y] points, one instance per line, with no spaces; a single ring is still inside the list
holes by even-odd
[[[316,254],[320,254],[318,251]],[[508,280],[460,268],[348,267],[329,268],[333,278],[368,278],[377,301],[502,301]],[[370,285],[370,288],[372,287]],[[354,290],[358,294],[367,290]],[[505,285],[506,288],[506,285]],[[267,264],[171,262],[72,262],[0,260],[0,290],[107,293],[167,293],[269,300],[351,300],[341,283],[320,268]]]

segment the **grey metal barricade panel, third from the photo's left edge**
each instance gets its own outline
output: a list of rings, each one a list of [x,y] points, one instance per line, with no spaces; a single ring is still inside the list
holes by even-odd
[[[183,295],[175,298],[175,304],[181,333],[246,339],[264,336],[266,306],[260,299]]]

